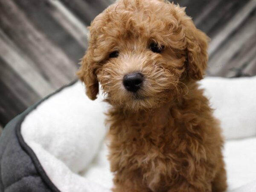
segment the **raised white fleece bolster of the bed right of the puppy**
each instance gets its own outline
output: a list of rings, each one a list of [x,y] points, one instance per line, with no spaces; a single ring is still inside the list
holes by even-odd
[[[256,136],[256,76],[208,77],[200,84],[227,140]]]

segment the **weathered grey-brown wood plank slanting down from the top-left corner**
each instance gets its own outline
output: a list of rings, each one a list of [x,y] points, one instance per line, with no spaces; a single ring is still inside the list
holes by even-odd
[[[0,3],[0,25],[6,36],[34,61],[38,70],[56,88],[74,76],[76,62],[68,57],[62,47],[47,38],[47,34],[38,29],[12,0]],[[45,27],[49,30],[47,25]]]

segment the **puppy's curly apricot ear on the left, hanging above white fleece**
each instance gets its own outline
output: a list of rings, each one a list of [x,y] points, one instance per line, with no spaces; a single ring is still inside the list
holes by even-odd
[[[89,48],[90,49],[90,48]],[[90,57],[90,50],[87,51],[87,54],[81,60],[81,67],[76,73],[79,76],[79,79],[84,82],[86,87],[87,96],[94,100],[99,93],[99,82],[96,76],[96,63]]]

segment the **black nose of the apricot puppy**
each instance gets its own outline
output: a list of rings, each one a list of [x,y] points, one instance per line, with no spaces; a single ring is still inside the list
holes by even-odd
[[[128,91],[136,92],[140,89],[143,82],[143,75],[141,73],[130,73],[124,76],[123,84]]]

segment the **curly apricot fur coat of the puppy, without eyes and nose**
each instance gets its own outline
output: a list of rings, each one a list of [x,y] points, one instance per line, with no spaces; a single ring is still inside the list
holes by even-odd
[[[108,112],[114,192],[224,192],[218,121],[196,81],[207,67],[207,36],[184,8],[119,0],[91,23],[78,75],[90,99],[99,83]],[[153,52],[150,44],[164,47]],[[116,51],[116,52],[115,52]],[[109,57],[115,52],[116,57]],[[143,74],[136,93],[123,77]]]

